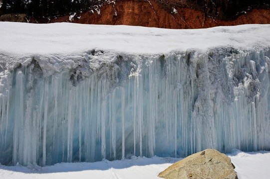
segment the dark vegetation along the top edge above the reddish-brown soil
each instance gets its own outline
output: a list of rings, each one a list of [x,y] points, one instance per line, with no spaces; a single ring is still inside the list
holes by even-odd
[[[106,0],[1,0],[0,15],[24,13],[34,17],[57,17],[73,12],[85,12],[96,8]],[[244,14],[252,8],[269,8],[270,0],[154,0],[161,8],[190,7],[206,16],[228,20]]]

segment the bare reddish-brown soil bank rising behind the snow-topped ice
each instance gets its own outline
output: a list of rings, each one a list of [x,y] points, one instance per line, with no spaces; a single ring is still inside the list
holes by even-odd
[[[208,28],[221,25],[267,24],[270,23],[270,9],[253,9],[234,20],[219,20],[206,16],[202,11],[179,6],[177,13],[172,7],[164,8],[157,0],[119,0],[94,10],[58,18],[31,18],[32,23],[73,22],[83,24],[135,25],[146,27],[187,29]]]

